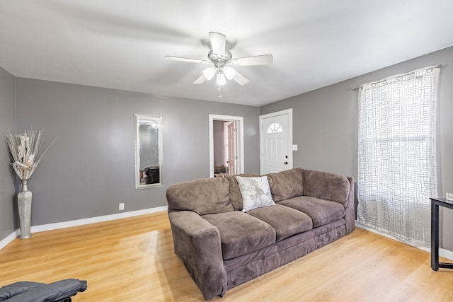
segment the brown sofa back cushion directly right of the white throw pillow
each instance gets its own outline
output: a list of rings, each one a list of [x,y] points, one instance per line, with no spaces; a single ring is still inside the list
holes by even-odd
[[[302,168],[270,173],[267,176],[270,193],[274,202],[280,202],[280,200],[298,197],[304,194]]]

